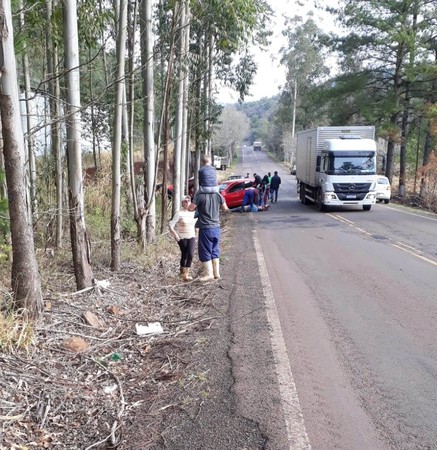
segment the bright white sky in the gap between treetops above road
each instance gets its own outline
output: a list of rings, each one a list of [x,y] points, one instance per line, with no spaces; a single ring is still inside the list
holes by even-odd
[[[285,82],[285,67],[280,61],[280,49],[286,44],[285,37],[282,36],[284,28],[283,15],[294,17],[296,15],[306,17],[309,11],[313,11],[314,18],[317,20],[319,27],[322,28],[323,22],[330,20],[332,26],[332,18],[328,18],[326,13],[316,10],[312,1],[299,0],[267,0],[271,8],[275,12],[276,17],[272,19],[273,35],[270,38],[271,45],[267,51],[254,49],[258,71],[255,76],[254,84],[250,88],[250,95],[245,101],[256,101],[263,97],[273,97],[280,92],[280,88]],[[319,3],[327,3],[330,0],[319,1]],[[330,1],[330,3],[333,3]],[[217,97],[219,103],[236,103],[238,94],[227,88],[220,88]]]

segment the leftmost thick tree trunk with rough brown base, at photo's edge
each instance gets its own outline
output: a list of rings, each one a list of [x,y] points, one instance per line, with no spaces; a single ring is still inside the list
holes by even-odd
[[[24,142],[10,6],[8,1],[0,2],[0,114],[13,252],[11,285],[15,308],[38,319],[43,302],[24,185]]]

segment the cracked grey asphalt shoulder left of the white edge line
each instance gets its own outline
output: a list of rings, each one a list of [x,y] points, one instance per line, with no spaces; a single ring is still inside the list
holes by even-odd
[[[230,213],[232,232],[222,246],[222,279],[211,286],[219,312],[202,332],[208,395],[195,416],[170,415],[165,444],[179,450],[287,448],[264,295],[250,214]]]

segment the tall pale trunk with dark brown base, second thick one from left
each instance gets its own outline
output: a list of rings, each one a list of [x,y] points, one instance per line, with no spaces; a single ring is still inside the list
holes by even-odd
[[[85,227],[80,123],[79,40],[76,0],[63,0],[70,234],[77,288],[92,285],[91,251]]]

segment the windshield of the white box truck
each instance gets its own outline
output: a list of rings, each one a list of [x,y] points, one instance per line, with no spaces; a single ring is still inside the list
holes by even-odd
[[[329,152],[325,172],[328,175],[374,175],[374,152]]]

